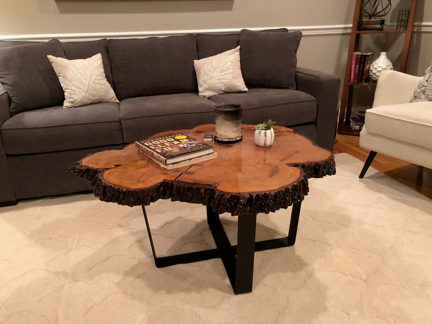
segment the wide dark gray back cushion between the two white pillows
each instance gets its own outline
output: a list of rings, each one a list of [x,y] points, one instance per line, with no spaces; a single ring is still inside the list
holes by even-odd
[[[119,100],[198,92],[195,35],[109,39],[108,51]]]

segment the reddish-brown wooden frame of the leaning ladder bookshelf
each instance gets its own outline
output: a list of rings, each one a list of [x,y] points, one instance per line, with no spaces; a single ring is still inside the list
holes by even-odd
[[[359,50],[359,40],[362,34],[386,34],[398,33],[405,34],[403,42],[402,56],[400,59],[400,72],[405,73],[407,68],[408,52],[410,51],[411,34],[413,32],[414,15],[416,13],[417,0],[410,0],[410,14],[408,16],[407,29],[387,29],[387,30],[357,30],[359,19],[362,15],[362,0],[356,0],[354,10],[353,27],[351,29],[351,37],[349,40],[348,57],[346,58],[345,78],[343,82],[343,91],[340,105],[339,121],[337,124],[337,133],[346,135],[359,136],[358,130],[351,129],[349,118],[351,117],[351,108],[353,101],[354,86],[377,86],[376,82],[349,82],[351,73],[351,60],[353,53]]]

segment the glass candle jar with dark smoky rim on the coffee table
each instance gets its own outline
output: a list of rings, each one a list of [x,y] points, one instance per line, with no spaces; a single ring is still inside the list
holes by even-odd
[[[241,141],[241,105],[219,104],[215,106],[217,143],[237,143]]]

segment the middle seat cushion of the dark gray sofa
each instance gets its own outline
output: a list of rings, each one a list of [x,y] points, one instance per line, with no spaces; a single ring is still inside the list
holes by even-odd
[[[123,139],[126,143],[132,143],[164,130],[214,124],[215,105],[197,93],[124,99],[120,102]]]

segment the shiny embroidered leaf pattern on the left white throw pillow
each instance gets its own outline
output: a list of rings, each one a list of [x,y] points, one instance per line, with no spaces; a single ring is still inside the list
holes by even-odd
[[[66,84],[76,104],[97,103],[108,88],[102,60],[79,60],[69,66]]]

